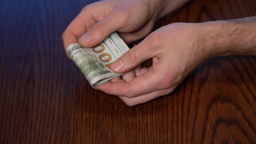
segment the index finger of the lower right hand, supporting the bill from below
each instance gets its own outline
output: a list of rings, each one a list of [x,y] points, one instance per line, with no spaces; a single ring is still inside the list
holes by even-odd
[[[129,82],[105,82],[97,88],[103,92],[124,97],[137,97],[162,89],[159,76],[154,70],[135,77]]]

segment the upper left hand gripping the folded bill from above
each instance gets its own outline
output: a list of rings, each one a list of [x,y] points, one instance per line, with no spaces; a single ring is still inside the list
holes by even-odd
[[[156,8],[153,1],[100,1],[83,8],[62,35],[65,49],[78,43],[95,46],[118,31],[126,43],[145,37],[153,28]]]

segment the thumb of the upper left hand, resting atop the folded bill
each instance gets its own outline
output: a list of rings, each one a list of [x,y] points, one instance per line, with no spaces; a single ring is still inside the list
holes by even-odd
[[[100,44],[111,33],[125,28],[128,17],[125,16],[125,13],[116,13],[116,11],[113,10],[107,17],[92,26],[87,33],[79,38],[79,44],[84,47],[95,46]]]

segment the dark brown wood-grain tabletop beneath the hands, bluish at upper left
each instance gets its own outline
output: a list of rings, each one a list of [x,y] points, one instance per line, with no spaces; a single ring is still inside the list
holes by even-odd
[[[256,143],[255,56],[209,59],[134,107],[91,88],[61,35],[92,2],[0,1],[0,143]],[[255,0],[195,0],[155,28],[253,15]]]

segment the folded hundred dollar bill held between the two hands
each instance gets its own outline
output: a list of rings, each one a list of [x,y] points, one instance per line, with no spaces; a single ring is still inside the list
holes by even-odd
[[[114,73],[110,65],[128,50],[129,47],[117,33],[109,35],[101,44],[92,48],[71,44],[66,49],[93,87],[122,75]]]

